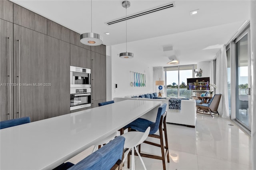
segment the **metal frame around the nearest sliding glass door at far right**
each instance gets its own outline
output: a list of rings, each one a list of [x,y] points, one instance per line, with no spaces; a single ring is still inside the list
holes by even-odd
[[[240,34],[240,36],[238,36],[235,40],[234,40],[234,46],[235,46],[235,51],[236,51],[236,43],[239,42],[244,36],[247,36],[248,38],[248,88],[251,88],[251,67],[250,67],[250,26],[248,26],[243,32],[242,34]],[[236,57],[236,52],[235,52],[235,67],[236,67],[236,101],[235,101],[235,104],[236,104],[236,111],[235,111],[235,114],[237,114],[237,111],[238,111],[238,91],[237,91],[237,87],[239,85],[238,83],[238,58]],[[251,112],[251,108],[252,108],[252,103],[251,103],[251,95],[248,95],[248,125],[245,125],[244,123],[242,123],[239,119],[237,119],[236,117],[236,121],[239,122],[241,125],[243,125],[245,128],[247,128],[248,130],[251,131],[251,127],[252,127],[252,112]]]

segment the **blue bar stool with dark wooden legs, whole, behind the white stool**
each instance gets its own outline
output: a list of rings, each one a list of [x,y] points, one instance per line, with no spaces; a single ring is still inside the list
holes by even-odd
[[[150,127],[149,137],[159,138],[160,145],[154,142],[144,141],[146,144],[151,144],[154,146],[158,146],[161,148],[162,156],[155,156],[152,154],[144,154],[140,152],[140,145],[139,145],[139,153],[141,156],[147,158],[154,158],[160,159],[163,162],[163,169],[166,169],[165,166],[165,155],[167,156],[167,161],[170,162],[169,158],[169,149],[168,149],[168,140],[167,140],[167,131],[166,131],[166,103],[158,108],[158,113],[156,116],[156,122],[151,122],[146,119],[138,118],[132,123],[128,124],[125,128],[128,128],[128,131],[136,130],[139,132],[145,132],[148,127]],[[164,125],[164,127],[162,127]],[[155,134],[159,130],[159,134]],[[164,132],[163,132],[164,131]],[[165,146],[164,146],[164,139],[165,139]],[[138,154],[136,154],[138,155]],[[128,168],[130,168],[130,154],[128,154]]]

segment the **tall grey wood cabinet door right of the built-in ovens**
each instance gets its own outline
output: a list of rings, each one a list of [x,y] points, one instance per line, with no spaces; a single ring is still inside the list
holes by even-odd
[[[92,53],[92,100],[106,99],[106,55]]]

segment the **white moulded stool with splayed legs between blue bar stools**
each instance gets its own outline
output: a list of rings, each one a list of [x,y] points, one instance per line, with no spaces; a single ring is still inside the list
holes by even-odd
[[[145,132],[138,132],[138,131],[130,131],[127,133],[122,134],[121,136],[124,136],[125,142],[124,142],[124,148],[128,149],[127,154],[124,156],[124,159],[128,156],[130,153],[130,150],[132,150],[132,170],[135,170],[135,162],[134,162],[134,150],[136,150],[136,153],[138,154],[140,161],[142,163],[142,166],[144,170],[146,170],[146,166],[140,156],[140,153],[138,152],[137,146],[144,142],[146,138],[148,137],[148,134],[150,132],[150,127],[146,129]]]

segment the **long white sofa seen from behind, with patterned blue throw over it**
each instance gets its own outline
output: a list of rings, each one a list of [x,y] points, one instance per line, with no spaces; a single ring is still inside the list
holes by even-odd
[[[167,123],[175,123],[180,125],[186,125],[188,127],[196,126],[196,101],[195,100],[182,100],[181,101],[181,109],[177,110],[178,112],[173,112],[173,110],[169,109],[169,99],[147,99],[147,98],[133,98],[133,97],[115,97],[114,101],[123,101],[123,100],[155,100],[162,101],[162,103],[166,103],[166,122]]]

